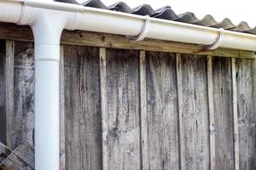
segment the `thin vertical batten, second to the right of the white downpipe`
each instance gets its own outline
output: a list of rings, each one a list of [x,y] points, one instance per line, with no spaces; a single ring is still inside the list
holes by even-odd
[[[106,48],[100,48],[100,83],[102,104],[102,169],[108,170],[108,113],[107,113],[107,77],[106,77]]]

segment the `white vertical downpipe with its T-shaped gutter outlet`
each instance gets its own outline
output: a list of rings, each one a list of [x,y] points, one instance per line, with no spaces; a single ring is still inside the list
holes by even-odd
[[[35,39],[35,168],[59,169],[59,65],[61,32],[75,13],[23,7],[20,25]],[[69,29],[72,29],[70,27]]]

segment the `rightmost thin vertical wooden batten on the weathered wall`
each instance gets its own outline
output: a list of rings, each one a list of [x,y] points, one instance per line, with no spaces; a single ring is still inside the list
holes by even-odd
[[[237,115],[237,91],[236,91],[236,59],[231,58],[232,70],[232,105],[233,105],[233,126],[234,126],[234,157],[235,170],[239,170],[239,133],[238,133],[238,115]]]

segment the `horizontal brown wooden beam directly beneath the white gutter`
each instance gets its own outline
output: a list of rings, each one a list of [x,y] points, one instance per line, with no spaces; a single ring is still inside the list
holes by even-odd
[[[32,30],[29,26],[0,23],[0,39],[15,41],[33,41]],[[201,54],[218,57],[234,57],[255,59],[255,53],[230,48],[207,50],[200,45],[170,42],[155,39],[145,39],[141,42],[131,41],[125,36],[91,31],[63,31],[61,44],[92,46],[101,48],[123,48],[145,51],[169,52],[180,54]]]

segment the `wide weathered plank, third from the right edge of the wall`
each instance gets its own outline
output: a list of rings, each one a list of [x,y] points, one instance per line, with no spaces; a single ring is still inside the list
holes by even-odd
[[[207,59],[182,55],[183,129],[187,169],[209,169]]]

